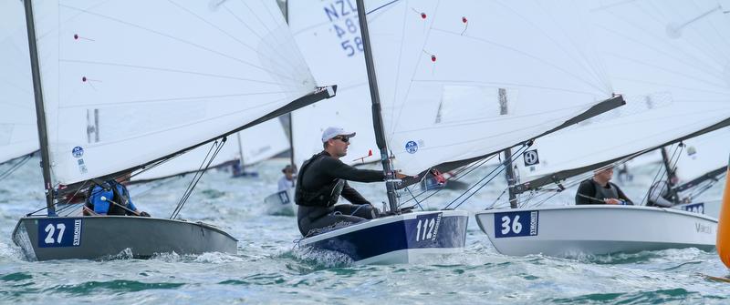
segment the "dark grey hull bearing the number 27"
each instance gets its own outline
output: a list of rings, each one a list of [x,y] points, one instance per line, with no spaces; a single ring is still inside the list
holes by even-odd
[[[238,242],[223,230],[200,222],[129,216],[22,218],[13,231],[13,241],[29,260],[235,253]]]

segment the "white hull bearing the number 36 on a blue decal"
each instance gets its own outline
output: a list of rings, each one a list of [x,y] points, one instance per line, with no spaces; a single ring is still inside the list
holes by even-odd
[[[717,219],[676,208],[515,208],[478,212],[475,218],[497,251],[516,256],[574,257],[691,247],[710,250],[717,232]]]

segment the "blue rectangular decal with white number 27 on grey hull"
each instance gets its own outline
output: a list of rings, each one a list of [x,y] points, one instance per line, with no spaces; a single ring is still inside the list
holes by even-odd
[[[38,247],[81,246],[82,219],[38,219]]]

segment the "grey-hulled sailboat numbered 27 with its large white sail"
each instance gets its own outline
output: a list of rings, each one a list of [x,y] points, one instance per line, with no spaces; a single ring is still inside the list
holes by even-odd
[[[167,219],[69,217],[56,203],[89,179],[335,93],[316,86],[271,1],[26,0],[25,10],[47,202],[45,215],[18,220],[13,240],[31,260],[235,252],[222,229],[179,219],[184,200]]]

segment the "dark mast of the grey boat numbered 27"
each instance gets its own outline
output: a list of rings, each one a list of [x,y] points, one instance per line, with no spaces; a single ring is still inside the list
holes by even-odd
[[[40,141],[43,183],[46,189],[46,207],[48,216],[56,216],[56,208],[53,204],[53,184],[51,182],[51,163],[48,156],[46,110],[43,106],[43,91],[40,84],[40,66],[38,64],[36,25],[34,24],[33,19],[33,5],[31,4],[31,0],[25,0],[24,5],[26,6],[26,27],[28,31],[28,50],[30,51],[30,68],[33,74],[33,95],[36,97],[36,124],[38,127],[38,140]]]

